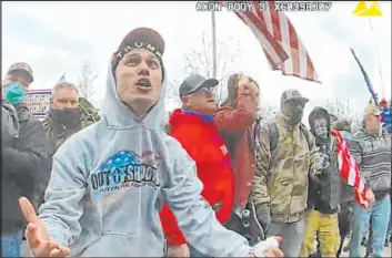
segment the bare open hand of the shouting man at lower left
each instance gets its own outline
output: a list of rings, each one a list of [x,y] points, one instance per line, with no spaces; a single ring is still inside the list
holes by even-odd
[[[59,244],[49,239],[43,221],[38,218],[28,198],[19,198],[19,206],[28,221],[26,239],[33,257],[66,257],[70,254],[68,247],[59,248]]]

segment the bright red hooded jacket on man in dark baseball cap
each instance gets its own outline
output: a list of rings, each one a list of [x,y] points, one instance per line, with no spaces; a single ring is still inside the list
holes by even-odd
[[[177,138],[195,162],[199,179],[203,183],[201,195],[211,206],[221,203],[217,219],[229,220],[233,206],[233,173],[230,155],[218,134],[213,121],[198,114],[175,110],[169,120],[170,135]],[[185,244],[175,217],[167,204],[160,213],[162,228],[169,245]]]

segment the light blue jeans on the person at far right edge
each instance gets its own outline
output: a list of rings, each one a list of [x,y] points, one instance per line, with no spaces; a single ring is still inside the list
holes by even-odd
[[[361,241],[363,237],[368,235],[371,216],[373,224],[373,238],[370,241],[372,252],[376,257],[382,257],[386,227],[391,216],[391,199],[389,195],[375,204],[371,204],[369,209],[364,209],[355,203],[355,218],[352,230],[350,257],[364,257],[364,248],[361,247]]]

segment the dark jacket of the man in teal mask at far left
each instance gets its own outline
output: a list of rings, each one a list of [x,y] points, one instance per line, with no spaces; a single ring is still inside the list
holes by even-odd
[[[1,229],[14,234],[26,226],[18,199],[27,196],[38,206],[50,177],[48,140],[41,122],[24,104],[14,106],[18,113],[19,137],[2,144],[1,156]]]

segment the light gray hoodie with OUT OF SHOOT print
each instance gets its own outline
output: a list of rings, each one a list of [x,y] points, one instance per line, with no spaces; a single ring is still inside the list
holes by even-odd
[[[159,211],[167,200],[187,240],[214,257],[251,247],[219,224],[201,197],[194,162],[163,131],[164,91],[140,120],[118,99],[109,68],[103,117],[53,156],[40,218],[51,239],[83,257],[163,257]]]

